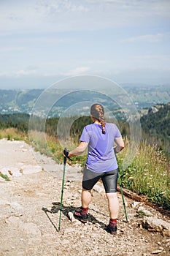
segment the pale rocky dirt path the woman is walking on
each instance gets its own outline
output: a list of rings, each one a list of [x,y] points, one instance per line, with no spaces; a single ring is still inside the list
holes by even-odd
[[[63,165],[22,141],[0,140],[0,256],[170,255],[169,217],[122,197],[116,236],[109,222],[102,184],[93,189],[89,221],[72,218],[80,206],[81,168],[66,165],[61,229],[58,231]],[[151,223],[152,222],[152,223]]]

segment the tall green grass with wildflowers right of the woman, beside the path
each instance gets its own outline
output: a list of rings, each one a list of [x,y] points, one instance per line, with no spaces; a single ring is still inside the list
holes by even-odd
[[[170,208],[169,161],[156,146],[141,143],[139,152],[126,170],[121,169],[125,151],[118,156],[123,187],[146,195],[158,206]]]

